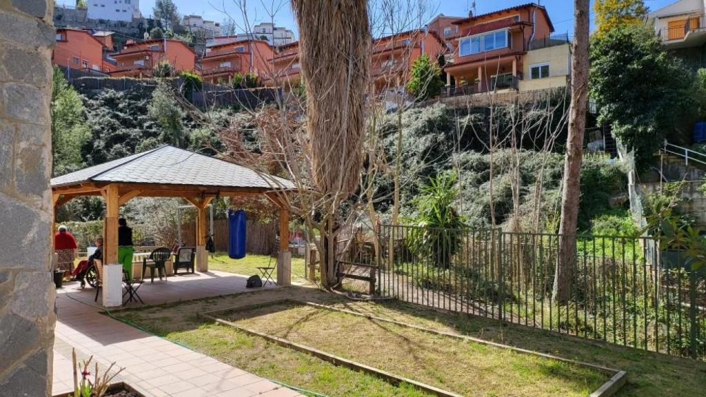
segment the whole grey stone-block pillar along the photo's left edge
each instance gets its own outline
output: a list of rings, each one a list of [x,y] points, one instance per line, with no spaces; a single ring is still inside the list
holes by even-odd
[[[0,0],[0,396],[52,388],[48,0]]]

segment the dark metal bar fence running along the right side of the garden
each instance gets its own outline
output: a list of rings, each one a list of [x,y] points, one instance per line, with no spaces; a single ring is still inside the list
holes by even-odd
[[[563,237],[577,246],[568,302],[554,297],[559,235],[385,225],[380,238],[378,295],[706,358],[704,272],[651,237]]]

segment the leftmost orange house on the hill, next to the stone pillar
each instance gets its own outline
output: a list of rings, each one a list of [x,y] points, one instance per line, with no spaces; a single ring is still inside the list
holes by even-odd
[[[52,64],[71,69],[108,72],[112,65],[103,57],[103,43],[86,30],[56,29]]]

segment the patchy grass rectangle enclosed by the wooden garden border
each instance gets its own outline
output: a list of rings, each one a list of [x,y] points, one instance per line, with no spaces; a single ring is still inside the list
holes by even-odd
[[[217,316],[465,396],[587,396],[609,378],[567,362],[292,303]]]

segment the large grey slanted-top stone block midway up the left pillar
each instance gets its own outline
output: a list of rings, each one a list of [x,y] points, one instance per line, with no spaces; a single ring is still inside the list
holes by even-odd
[[[51,215],[1,193],[0,208],[0,225],[11,225],[12,229],[0,233],[0,267],[48,271],[51,266]]]

